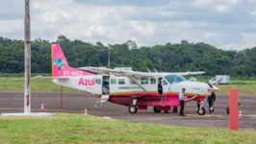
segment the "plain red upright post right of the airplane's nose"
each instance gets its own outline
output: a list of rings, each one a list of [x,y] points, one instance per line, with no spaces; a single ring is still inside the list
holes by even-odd
[[[229,90],[229,129],[239,130],[239,92],[238,89]]]

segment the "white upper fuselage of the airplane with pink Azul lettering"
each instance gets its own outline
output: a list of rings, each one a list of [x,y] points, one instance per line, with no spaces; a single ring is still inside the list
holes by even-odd
[[[162,79],[163,78],[163,79]],[[106,79],[106,80],[105,80]],[[162,79],[162,80],[161,80]],[[183,87],[187,93],[207,95],[210,86],[206,83],[189,82],[178,75],[171,75],[156,78],[139,78],[116,77],[115,75],[91,75],[70,77],[67,80],[54,79],[55,84],[64,85],[90,92],[94,95],[161,95],[159,91],[162,86],[163,94],[180,92]],[[161,84],[161,85],[160,85]]]

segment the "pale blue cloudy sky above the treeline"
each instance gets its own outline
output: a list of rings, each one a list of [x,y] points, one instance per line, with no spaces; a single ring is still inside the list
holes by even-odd
[[[205,42],[223,50],[256,46],[256,0],[31,0],[31,37],[139,47]],[[0,5],[0,36],[24,39],[24,0]]]

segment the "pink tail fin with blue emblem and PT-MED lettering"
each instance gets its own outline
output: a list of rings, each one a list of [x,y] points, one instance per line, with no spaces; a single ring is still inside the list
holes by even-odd
[[[76,77],[92,75],[89,72],[81,71],[69,66],[64,57],[64,52],[59,43],[52,43],[52,75],[53,77]]]

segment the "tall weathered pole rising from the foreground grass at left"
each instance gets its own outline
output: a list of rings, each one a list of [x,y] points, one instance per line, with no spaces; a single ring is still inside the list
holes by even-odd
[[[31,112],[31,41],[30,41],[30,1],[25,0],[25,80],[24,80],[24,113]]]

